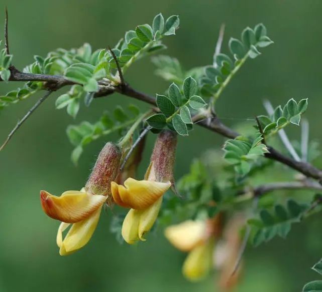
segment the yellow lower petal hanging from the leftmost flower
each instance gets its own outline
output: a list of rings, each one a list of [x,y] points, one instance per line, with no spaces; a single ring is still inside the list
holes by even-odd
[[[60,255],[68,255],[83,247],[89,241],[96,229],[101,207],[85,220],[74,223],[71,226],[60,246]]]

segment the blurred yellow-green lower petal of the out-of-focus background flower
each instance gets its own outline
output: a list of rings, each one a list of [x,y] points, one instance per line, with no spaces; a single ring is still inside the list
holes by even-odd
[[[212,251],[213,240],[193,248],[183,263],[183,275],[191,281],[204,278],[212,266]]]

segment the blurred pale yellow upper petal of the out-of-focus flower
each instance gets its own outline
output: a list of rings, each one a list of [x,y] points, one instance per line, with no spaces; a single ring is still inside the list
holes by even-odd
[[[190,251],[206,239],[206,222],[187,220],[167,227],[164,235],[176,248]]]

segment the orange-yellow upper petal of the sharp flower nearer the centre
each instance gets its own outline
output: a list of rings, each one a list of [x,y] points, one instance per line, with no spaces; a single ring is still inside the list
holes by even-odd
[[[128,178],[123,185],[112,182],[115,202],[123,207],[142,210],[156,202],[171,186],[171,182]]]

